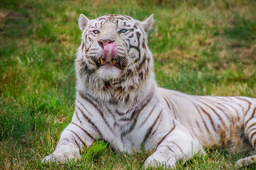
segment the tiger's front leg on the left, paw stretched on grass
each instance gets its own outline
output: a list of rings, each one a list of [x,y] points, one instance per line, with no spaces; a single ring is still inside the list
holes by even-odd
[[[84,133],[76,124],[69,124],[61,133],[56,150],[44,157],[42,162],[67,162],[68,160],[80,160],[81,150],[84,146],[90,146],[94,139]]]

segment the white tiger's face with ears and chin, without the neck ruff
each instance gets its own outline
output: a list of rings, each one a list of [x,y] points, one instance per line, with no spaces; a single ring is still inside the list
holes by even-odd
[[[105,15],[95,20],[80,15],[79,27],[83,32],[80,50],[87,69],[102,80],[122,77],[145,55],[151,22],[145,25],[125,15]]]

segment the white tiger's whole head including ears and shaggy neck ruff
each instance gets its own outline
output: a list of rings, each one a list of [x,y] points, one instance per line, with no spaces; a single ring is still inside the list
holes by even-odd
[[[152,53],[147,46],[153,22],[153,15],[139,21],[125,15],[89,20],[81,14],[77,90],[102,101],[134,99],[132,92],[145,89],[147,81],[154,79]]]

